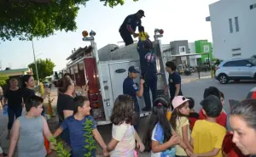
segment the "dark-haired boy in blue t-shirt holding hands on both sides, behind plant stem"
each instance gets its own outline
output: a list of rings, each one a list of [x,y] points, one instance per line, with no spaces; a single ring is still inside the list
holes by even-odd
[[[84,154],[91,153],[91,157],[96,156],[96,151],[93,149],[85,149],[84,146],[88,145],[85,141],[84,134],[88,131],[84,130],[84,124],[90,123],[92,121],[92,134],[96,141],[102,146],[104,156],[108,155],[107,146],[104,143],[101,134],[96,129],[96,121],[90,115],[90,102],[88,98],[78,96],[74,98],[74,114],[67,117],[65,121],[61,123],[61,126],[55,131],[54,137],[57,137],[63,132],[63,130],[68,129],[70,136],[70,147],[72,149],[73,157],[84,157]]]

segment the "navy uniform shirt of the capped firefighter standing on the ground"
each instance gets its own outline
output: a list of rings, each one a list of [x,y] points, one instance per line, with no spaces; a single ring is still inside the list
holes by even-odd
[[[137,85],[133,82],[131,77],[126,77],[125,81],[123,82],[123,93],[130,95],[133,98],[134,104],[138,104],[137,102],[137,95],[136,93],[138,92],[138,87]]]

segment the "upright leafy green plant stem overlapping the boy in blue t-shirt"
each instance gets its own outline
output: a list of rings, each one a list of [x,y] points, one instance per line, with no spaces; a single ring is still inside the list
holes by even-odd
[[[88,152],[86,154],[84,154],[85,157],[90,157],[92,150],[96,149],[96,141],[93,137],[92,126],[93,126],[92,120],[87,119],[84,123],[84,131],[85,131],[84,143],[86,143],[86,145],[84,145],[84,148],[88,150]]]

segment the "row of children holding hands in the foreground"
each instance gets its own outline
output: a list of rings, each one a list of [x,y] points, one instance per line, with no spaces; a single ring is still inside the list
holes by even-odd
[[[137,149],[149,152],[151,157],[230,156],[230,152],[225,152],[224,149],[225,140],[229,144],[232,143],[227,141],[230,134],[227,134],[225,129],[227,115],[223,104],[224,94],[216,87],[205,90],[200,114],[195,113],[193,109],[193,98],[177,96],[172,100],[172,106],[165,98],[156,98],[142,141],[132,124],[134,118],[137,118],[133,100],[129,95],[119,95],[110,117],[113,123],[112,139],[105,144],[96,129],[96,121],[90,115],[88,98],[74,98],[74,114],[63,121],[52,135],[41,115],[43,99],[32,96],[26,102],[26,115],[15,121],[9,157],[13,156],[16,145],[19,157],[45,157],[44,137],[48,140],[52,136],[58,137],[67,128],[73,157],[82,157],[88,153],[92,157],[96,156],[96,149],[87,147],[91,143],[84,137],[90,129],[91,135],[102,146],[103,156],[136,157]],[[84,124],[89,121],[90,129],[84,130]]]

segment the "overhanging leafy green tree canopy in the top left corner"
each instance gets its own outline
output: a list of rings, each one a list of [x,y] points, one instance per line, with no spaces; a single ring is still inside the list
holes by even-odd
[[[89,0],[1,0],[0,39],[32,40],[47,37],[55,31],[75,31],[79,8]],[[100,0],[113,8],[125,0]],[[133,0],[136,2],[137,0]]]

